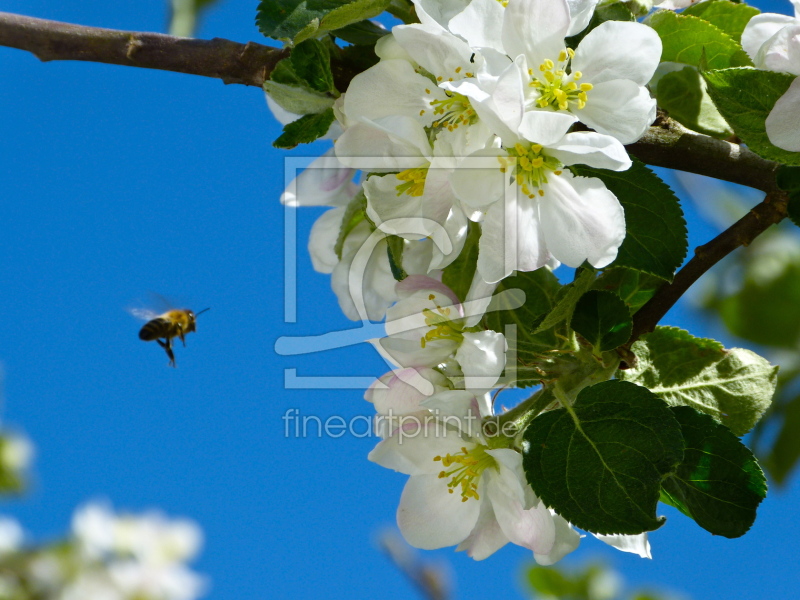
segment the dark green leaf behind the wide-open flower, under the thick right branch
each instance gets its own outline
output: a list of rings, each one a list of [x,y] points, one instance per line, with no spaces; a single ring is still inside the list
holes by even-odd
[[[570,167],[576,175],[597,177],[625,209],[627,234],[614,267],[630,267],[672,280],[686,257],[686,221],[677,196],[641,162],[627,171]]]

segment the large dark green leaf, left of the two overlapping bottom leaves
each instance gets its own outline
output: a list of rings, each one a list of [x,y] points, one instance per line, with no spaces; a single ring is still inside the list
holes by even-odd
[[[583,389],[571,412],[544,413],[523,434],[522,465],[533,491],[593,533],[658,529],[661,482],[683,459],[670,409],[643,387],[605,381]]]

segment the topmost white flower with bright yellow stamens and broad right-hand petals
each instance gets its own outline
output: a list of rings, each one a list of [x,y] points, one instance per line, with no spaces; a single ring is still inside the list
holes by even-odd
[[[571,23],[566,0],[514,0],[505,9],[506,54],[525,59],[526,110],[564,112],[623,144],[636,141],[656,115],[645,85],[661,59],[658,34],[606,21],[573,51],[564,43]]]

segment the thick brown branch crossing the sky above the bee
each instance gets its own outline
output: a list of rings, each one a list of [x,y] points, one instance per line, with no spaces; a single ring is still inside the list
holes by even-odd
[[[0,46],[27,50],[42,61],[85,60],[177,71],[257,87],[288,55],[253,42],[118,31],[4,12],[0,12]]]

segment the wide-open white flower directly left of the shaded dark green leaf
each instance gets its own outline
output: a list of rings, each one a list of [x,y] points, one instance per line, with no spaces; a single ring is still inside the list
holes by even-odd
[[[478,271],[489,283],[552,259],[604,267],[625,237],[616,196],[599,179],[564,168],[622,171],[630,166],[625,148],[600,133],[567,133],[574,120],[565,113],[524,111],[522,62],[510,65],[488,92],[472,82],[459,86],[503,142],[474,153],[451,176],[461,202],[485,212]]]

